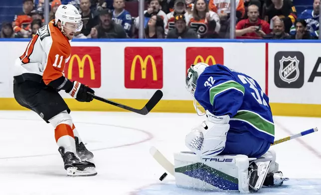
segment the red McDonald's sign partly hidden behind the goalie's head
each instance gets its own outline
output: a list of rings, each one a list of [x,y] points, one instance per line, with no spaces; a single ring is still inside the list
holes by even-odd
[[[186,48],[186,72],[190,65],[199,62],[208,65],[224,65],[224,49],[222,47],[187,47]]]

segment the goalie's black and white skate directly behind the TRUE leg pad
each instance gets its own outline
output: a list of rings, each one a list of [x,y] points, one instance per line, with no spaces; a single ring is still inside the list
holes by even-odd
[[[271,161],[267,162],[252,162],[249,166],[249,191],[252,193],[258,192],[263,185],[266,175],[269,171]]]

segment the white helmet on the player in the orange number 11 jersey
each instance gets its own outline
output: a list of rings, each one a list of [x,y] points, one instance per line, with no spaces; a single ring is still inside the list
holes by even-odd
[[[62,31],[64,29],[70,31],[81,31],[83,22],[78,9],[72,4],[59,5],[55,13],[55,24],[61,22]]]

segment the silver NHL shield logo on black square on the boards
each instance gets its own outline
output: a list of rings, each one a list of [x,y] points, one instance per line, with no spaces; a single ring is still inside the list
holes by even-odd
[[[297,81],[300,76],[299,63],[300,60],[297,59],[297,56],[293,58],[282,56],[279,70],[280,79],[289,84]]]

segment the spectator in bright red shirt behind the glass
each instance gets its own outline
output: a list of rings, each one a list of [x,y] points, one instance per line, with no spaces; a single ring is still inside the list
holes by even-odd
[[[252,4],[248,7],[248,18],[242,19],[236,24],[235,36],[262,37],[271,32],[270,24],[259,18],[259,7]]]

